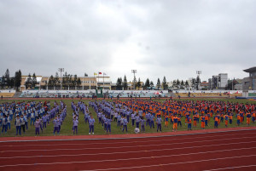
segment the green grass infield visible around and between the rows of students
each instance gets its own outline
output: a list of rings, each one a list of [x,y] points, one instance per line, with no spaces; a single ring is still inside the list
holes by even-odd
[[[183,100],[183,99],[182,99]],[[191,98],[191,99],[186,99],[186,100],[203,100],[203,99],[195,99],[195,98]],[[204,99],[206,100],[206,99]],[[250,104],[256,104],[255,100],[235,100],[235,99],[207,99],[207,100],[223,100],[223,101],[229,101],[229,102],[238,102],[238,103],[250,103]],[[4,102],[12,102],[14,100],[0,100],[0,103],[4,103]],[[15,100],[15,102],[18,101],[29,101],[29,100]],[[43,101],[44,100],[34,100],[34,101]],[[53,105],[53,103],[55,102],[55,100],[49,100],[51,103],[51,106]],[[57,102],[59,102],[60,100],[56,100]],[[63,100],[66,105],[67,105],[67,117],[65,119],[65,121],[62,123],[61,126],[61,132],[60,135],[73,135],[73,119],[72,119],[72,109],[71,109],[71,102],[72,100]],[[73,100],[75,103],[78,103],[79,100]],[[85,104],[88,104],[89,100],[83,100]],[[156,101],[164,101],[164,100],[156,100]],[[96,112],[92,110],[92,108],[90,108],[90,112],[92,113],[92,115],[96,118]],[[164,120],[164,119],[162,119]],[[184,123],[184,117],[182,117],[182,123],[183,126],[182,127],[178,127],[177,130],[181,131],[181,130],[187,130],[187,125],[185,125]],[[198,124],[197,128],[193,128],[192,129],[196,130],[196,129],[201,129],[200,128],[201,124]],[[250,126],[255,126],[256,124],[251,123]],[[131,126],[131,122],[128,124],[128,134],[134,134],[134,128]],[[234,117],[233,119],[233,124],[229,125],[229,127],[236,127],[236,119]],[[247,127],[247,124],[243,124],[240,127]],[[213,119],[211,118],[211,121],[209,123],[209,126],[206,128],[213,128]],[[224,128],[224,123],[220,123],[219,128]],[[117,123],[112,123],[111,124],[111,129],[112,129],[112,134],[126,134],[123,133],[120,128],[117,128]],[[79,135],[87,135],[89,133],[89,127],[88,127],[88,123],[85,124],[84,123],[84,114],[82,112],[79,112]],[[2,128],[1,128],[2,131]],[[165,128],[164,126],[164,122],[162,123],[162,132],[169,132],[172,131],[172,125],[170,125],[169,123],[169,128]],[[154,128],[150,129],[149,127],[145,126],[145,133],[156,133],[156,125]],[[15,136],[16,134],[16,129],[15,129],[15,123],[14,120],[11,123],[11,129],[8,130],[8,132],[6,134],[1,133],[1,136],[3,137],[11,137],[11,136]],[[101,124],[98,124],[98,120],[96,119],[96,123],[95,123],[95,134],[106,134],[105,131],[102,128]],[[53,123],[49,123],[49,125],[47,125],[47,128],[44,128],[44,133],[41,134],[40,132],[40,136],[53,136]],[[20,135],[18,135],[20,136]],[[26,134],[22,134],[21,136],[35,136],[35,128],[34,126],[30,125],[30,121],[28,122],[28,130],[26,130]],[[56,135],[57,136],[57,135]]]

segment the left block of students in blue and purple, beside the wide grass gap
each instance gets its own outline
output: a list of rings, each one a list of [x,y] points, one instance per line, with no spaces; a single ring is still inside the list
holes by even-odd
[[[53,122],[53,134],[59,134],[61,124],[67,116],[67,106],[61,101],[60,105],[55,101],[54,106],[50,102],[35,101],[3,103],[0,105],[0,134],[6,134],[11,128],[11,122],[15,120],[16,136],[26,134],[29,127],[35,128],[35,135],[43,133],[44,128]]]

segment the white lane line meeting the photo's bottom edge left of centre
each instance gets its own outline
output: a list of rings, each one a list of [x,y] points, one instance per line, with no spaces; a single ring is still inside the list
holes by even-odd
[[[256,155],[250,156],[241,156],[241,157],[255,157]],[[208,160],[195,160],[189,162],[172,162],[166,164],[154,164],[154,165],[144,165],[144,166],[134,166],[129,168],[103,168],[103,169],[93,169],[93,170],[80,170],[80,171],[103,171],[103,170],[123,170],[123,169],[132,169],[132,168],[151,168],[151,167],[161,167],[161,166],[169,166],[169,165],[177,165],[177,164],[184,164],[184,163],[193,163],[193,162],[209,162],[209,161],[216,161],[216,160],[225,160],[225,159],[232,159],[232,158],[241,158],[241,157],[223,157],[223,158],[213,158]]]

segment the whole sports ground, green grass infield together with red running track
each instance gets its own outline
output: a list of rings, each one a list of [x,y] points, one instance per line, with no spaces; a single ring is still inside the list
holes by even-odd
[[[256,104],[252,100],[214,100]],[[1,103],[11,101],[2,100]],[[18,101],[24,100],[15,100]],[[49,101],[54,104],[60,100]],[[256,168],[255,123],[250,126],[244,123],[237,127],[234,117],[229,128],[225,128],[224,123],[220,123],[219,128],[213,128],[211,119],[204,130],[199,124],[196,128],[192,127],[192,131],[187,131],[187,125],[183,124],[177,128],[177,132],[172,132],[172,125],[165,128],[162,123],[163,133],[156,133],[156,127],[150,129],[147,126],[143,134],[135,134],[135,127],[128,123],[128,134],[124,134],[113,122],[112,134],[106,135],[96,119],[95,134],[89,135],[88,123],[84,123],[80,112],[79,135],[73,135],[71,102],[78,103],[79,100],[63,101],[67,104],[67,117],[60,135],[53,135],[53,123],[49,123],[40,136],[35,137],[35,128],[29,125],[25,135],[15,137],[12,123],[7,134],[0,137],[0,170],[253,171]],[[89,102],[82,101],[85,104]],[[164,103],[166,100],[155,101]],[[96,118],[96,112],[92,108],[89,110]]]

